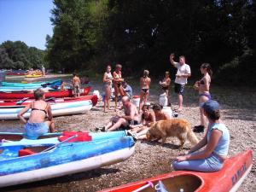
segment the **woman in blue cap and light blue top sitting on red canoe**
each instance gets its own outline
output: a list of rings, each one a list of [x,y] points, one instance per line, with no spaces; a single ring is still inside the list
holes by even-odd
[[[189,150],[189,154],[178,156],[172,163],[175,170],[217,172],[224,165],[230,146],[230,133],[219,120],[219,104],[209,100],[202,103],[204,114],[209,120],[206,136]],[[199,149],[205,147],[201,151]]]

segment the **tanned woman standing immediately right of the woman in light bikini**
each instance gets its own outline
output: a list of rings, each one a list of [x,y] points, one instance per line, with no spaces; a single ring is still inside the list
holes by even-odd
[[[121,97],[125,96],[123,87],[122,87],[122,82],[124,79],[122,79],[122,73],[121,73],[122,66],[120,64],[117,64],[115,66],[115,71],[113,72],[113,88],[114,88],[114,110],[118,108],[117,102],[118,102],[118,97],[119,94]]]

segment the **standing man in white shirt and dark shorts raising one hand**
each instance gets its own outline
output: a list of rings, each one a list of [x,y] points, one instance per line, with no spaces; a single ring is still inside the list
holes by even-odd
[[[191,76],[190,67],[185,63],[185,56],[179,56],[179,62],[173,60],[174,54],[170,55],[170,61],[174,67],[177,68],[174,91],[177,93],[178,108],[174,109],[180,112],[183,109],[183,90],[185,84],[187,84],[187,79]]]

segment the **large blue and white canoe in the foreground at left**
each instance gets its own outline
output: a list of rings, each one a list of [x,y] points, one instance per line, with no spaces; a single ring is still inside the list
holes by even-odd
[[[92,142],[61,143],[46,152],[42,151],[51,145],[0,147],[0,187],[112,165],[128,159],[134,152],[134,144],[132,137],[119,137]]]

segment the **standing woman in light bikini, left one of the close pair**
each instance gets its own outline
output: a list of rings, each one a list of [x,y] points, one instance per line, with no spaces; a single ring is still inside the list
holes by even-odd
[[[113,76],[111,74],[111,67],[107,66],[107,70],[103,75],[103,83],[104,83],[104,89],[105,89],[105,99],[104,99],[104,112],[107,112],[107,109],[109,110],[110,106],[110,97],[111,97],[111,89],[112,89],[112,80]]]

